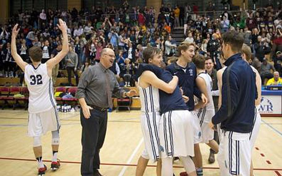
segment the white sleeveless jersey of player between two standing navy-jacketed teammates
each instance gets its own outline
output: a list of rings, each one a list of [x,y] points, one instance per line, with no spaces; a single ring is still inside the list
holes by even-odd
[[[214,112],[214,101],[213,101],[213,96],[212,96],[212,89],[213,89],[213,82],[212,82],[212,78],[209,76],[208,73],[200,73],[198,75],[198,77],[201,77],[205,80],[206,82],[206,89],[207,89],[207,93],[208,93],[208,99],[209,99],[209,103],[205,106],[205,120],[204,121],[210,121],[211,118],[214,116],[215,112]]]

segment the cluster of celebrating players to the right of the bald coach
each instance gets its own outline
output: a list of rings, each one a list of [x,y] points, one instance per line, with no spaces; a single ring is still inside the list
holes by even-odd
[[[193,43],[180,44],[178,61],[166,69],[161,68],[157,48],[143,51],[147,64],[139,66],[137,85],[145,149],[136,175],[143,175],[150,159],[157,161],[157,175],[172,176],[174,157],[179,157],[186,171],[180,175],[203,175],[199,143],[218,153],[220,175],[253,175],[251,153],[260,126],[256,106],[261,79],[248,64],[251,49],[243,42],[239,33],[224,34],[218,91],[212,90],[213,80],[205,69],[211,59],[195,55]],[[212,95],[219,95],[217,112]]]

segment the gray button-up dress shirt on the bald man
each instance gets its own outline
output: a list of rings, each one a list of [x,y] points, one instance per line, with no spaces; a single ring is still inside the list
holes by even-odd
[[[77,86],[76,98],[85,98],[88,105],[108,108],[106,73],[109,74],[111,92],[117,97],[122,97],[125,91],[121,90],[114,73],[99,63],[90,66],[82,73]]]

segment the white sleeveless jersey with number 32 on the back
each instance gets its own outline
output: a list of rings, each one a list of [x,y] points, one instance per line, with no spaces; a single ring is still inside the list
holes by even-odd
[[[29,113],[40,113],[56,109],[52,78],[47,74],[47,66],[39,64],[35,68],[32,64],[24,69],[24,80],[29,89]]]

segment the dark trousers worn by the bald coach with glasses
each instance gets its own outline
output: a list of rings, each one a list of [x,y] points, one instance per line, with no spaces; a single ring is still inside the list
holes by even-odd
[[[93,172],[100,168],[99,152],[103,146],[106,130],[108,113],[107,110],[90,110],[90,118],[83,116],[80,110],[80,121],[82,125],[82,157],[81,175],[93,176]]]

